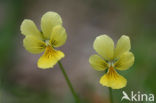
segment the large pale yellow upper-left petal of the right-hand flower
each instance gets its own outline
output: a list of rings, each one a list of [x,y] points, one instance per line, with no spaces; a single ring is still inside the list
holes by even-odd
[[[107,35],[101,35],[96,37],[93,48],[99,53],[104,59],[112,60],[114,55],[114,42]]]

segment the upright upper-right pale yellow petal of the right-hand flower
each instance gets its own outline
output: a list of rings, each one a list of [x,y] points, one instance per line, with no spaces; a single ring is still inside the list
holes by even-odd
[[[120,37],[120,39],[117,42],[114,57],[119,57],[125,52],[128,52],[131,49],[130,39],[128,36],[123,35]]]

